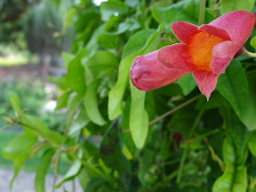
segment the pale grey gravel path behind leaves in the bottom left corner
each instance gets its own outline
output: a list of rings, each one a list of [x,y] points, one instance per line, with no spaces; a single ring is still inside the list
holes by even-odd
[[[9,183],[12,179],[13,170],[0,168],[0,192],[10,192]],[[57,183],[61,180],[58,178]],[[18,177],[13,182],[12,192],[35,192],[34,184],[35,173],[20,171]],[[45,181],[45,192],[52,192],[53,175],[47,175]],[[78,180],[75,181],[76,192],[83,192]],[[71,192],[72,182],[63,183],[62,187],[55,189],[54,192]]]

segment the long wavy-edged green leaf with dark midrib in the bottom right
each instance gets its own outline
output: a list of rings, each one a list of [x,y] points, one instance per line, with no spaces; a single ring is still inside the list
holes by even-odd
[[[247,159],[248,131],[239,121],[230,107],[223,106],[221,115],[224,118],[226,139],[223,142],[222,153],[225,163],[224,174],[213,185],[213,192],[246,191],[247,173],[244,166]]]

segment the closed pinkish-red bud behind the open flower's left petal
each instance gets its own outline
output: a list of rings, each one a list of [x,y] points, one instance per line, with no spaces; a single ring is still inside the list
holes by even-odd
[[[157,61],[157,51],[154,51],[133,60],[129,77],[137,89],[150,91],[170,84],[186,74],[179,69],[166,69]]]

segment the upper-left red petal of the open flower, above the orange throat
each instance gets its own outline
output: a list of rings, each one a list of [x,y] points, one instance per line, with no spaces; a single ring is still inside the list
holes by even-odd
[[[182,42],[188,44],[199,31],[198,27],[186,21],[176,21],[171,25],[172,32]]]

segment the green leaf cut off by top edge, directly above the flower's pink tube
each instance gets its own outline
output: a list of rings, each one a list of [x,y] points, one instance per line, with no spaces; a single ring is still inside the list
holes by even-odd
[[[220,3],[221,14],[228,13],[234,10],[252,11],[255,0],[222,0]]]

